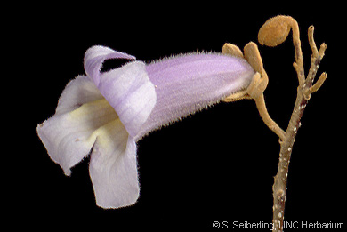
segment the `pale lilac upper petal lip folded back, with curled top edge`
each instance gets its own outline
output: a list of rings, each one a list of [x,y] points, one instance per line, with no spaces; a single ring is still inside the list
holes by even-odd
[[[101,94],[115,108],[126,131],[134,137],[147,121],[156,104],[157,95],[143,62],[133,61],[121,68],[101,73],[104,60],[117,58],[133,59],[133,56],[94,46],[85,52],[85,72],[93,78]]]

